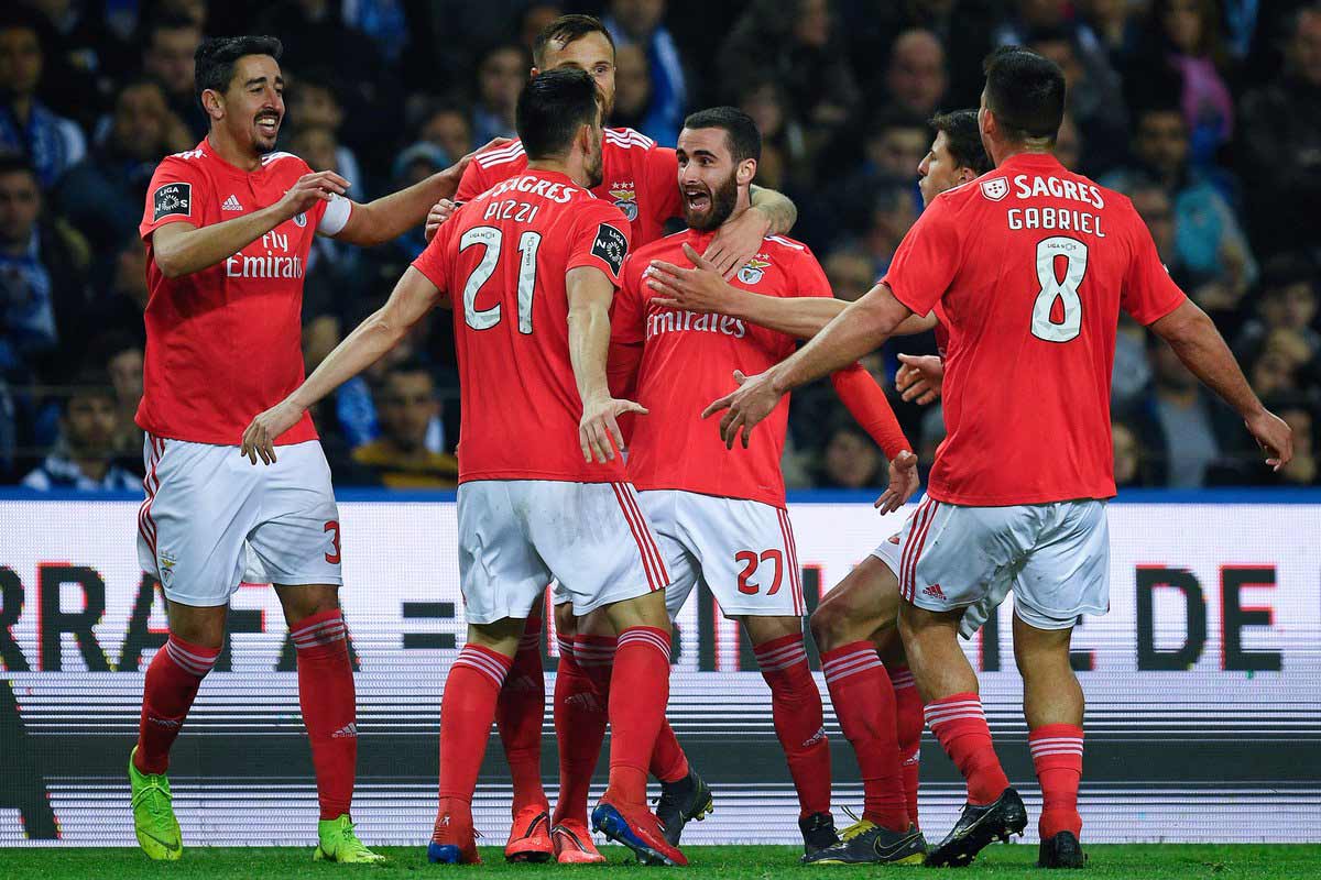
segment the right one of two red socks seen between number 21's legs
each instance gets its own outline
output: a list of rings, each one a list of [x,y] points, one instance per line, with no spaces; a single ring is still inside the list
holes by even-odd
[[[609,693],[613,664],[614,636],[560,640],[560,668],[555,676],[555,739],[560,751],[556,823],[565,819],[587,823],[588,789],[605,740],[606,702],[600,687]]]

